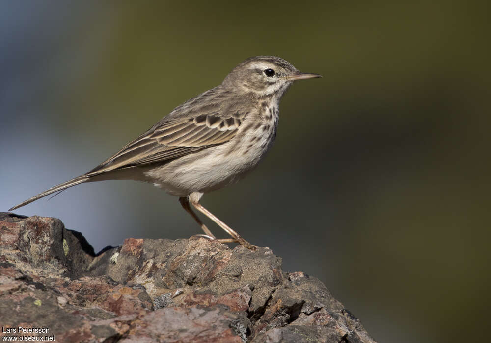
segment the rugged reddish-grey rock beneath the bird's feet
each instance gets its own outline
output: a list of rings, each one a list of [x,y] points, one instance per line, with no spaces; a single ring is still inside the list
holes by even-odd
[[[282,271],[269,248],[129,238],[95,254],[81,233],[38,216],[0,213],[0,300],[3,336],[374,342],[318,279]]]

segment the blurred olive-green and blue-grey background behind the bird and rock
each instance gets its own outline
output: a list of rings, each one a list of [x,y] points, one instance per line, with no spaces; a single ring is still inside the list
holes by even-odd
[[[489,10],[1,1],[0,210],[92,169],[247,57],[280,56],[324,78],[290,89],[265,161],[204,206],[285,271],[321,279],[380,342],[479,342],[491,305]],[[15,213],[60,218],[96,250],[201,233],[176,197],[132,181]]]

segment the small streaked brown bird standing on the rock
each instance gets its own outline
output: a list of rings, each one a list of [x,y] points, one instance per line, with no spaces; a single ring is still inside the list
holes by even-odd
[[[264,158],[276,137],[278,106],[296,80],[322,77],[303,73],[275,56],[246,59],[223,82],[174,108],[150,129],[89,172],[33,196],[9,211],[69,187],[94,181],[150,182],[178,196],[182,207],[209,239],[217,239],[192,210],[214,221],[248,249],[236,231],[200,203],[205,193],[236,183]]]

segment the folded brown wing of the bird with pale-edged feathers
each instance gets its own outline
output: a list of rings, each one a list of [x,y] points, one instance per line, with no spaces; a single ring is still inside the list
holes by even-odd
[[[216,112],[164,118],[85,175],[91,177],[117,169],[167,162],[222,144],[234,137],[242,118],[239,113],[223,116]]]

